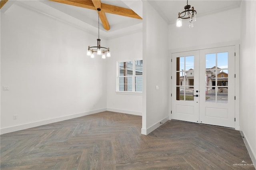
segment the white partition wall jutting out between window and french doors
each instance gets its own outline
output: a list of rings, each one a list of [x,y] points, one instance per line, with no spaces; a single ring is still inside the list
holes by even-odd
[[[143,1],[142,134],[168,120],[168,24]],[[159,89],[157,89],[157,87]]]

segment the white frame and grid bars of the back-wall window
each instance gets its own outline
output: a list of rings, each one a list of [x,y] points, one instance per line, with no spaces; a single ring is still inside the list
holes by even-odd
[[[142,60],[142,58],[138,58],[138,59],[128,59],[128,60],[122,60],[122,61],[117,61],[116,62],[116,93],[117,94],[134,94],[134,95],[140,95],[142,94],[142,91],[135,91],[136,87],[136,82],[135,82],[135,77],[143,77],[143,71],[142,71],[142,75],[136,75],[136,61],[139,61],[139,60]],[[132,61],[132,75],[128,75],[128,76],[120,76],[120,69],[119,69],[119,65],[120,63],[124,63],[124,62],[129,62],[129,61]],[[142,60],[143,62],[143,60]],[[143,70],[143,65],[142,65],[142,70]],[[119,78],[120,77],[132,77],[132,91],[120,91],[120,82],[119,82]],[[143,78],[142,78],[142,81],[143,81]]]

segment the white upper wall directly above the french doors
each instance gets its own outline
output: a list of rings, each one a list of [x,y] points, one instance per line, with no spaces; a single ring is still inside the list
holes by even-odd
[[[169,49],[196,49],[197,47],[220,42],[240,40],[240,8],[213,15],[198,16],[193,28],[188,20],[182,27],[169,25]]]

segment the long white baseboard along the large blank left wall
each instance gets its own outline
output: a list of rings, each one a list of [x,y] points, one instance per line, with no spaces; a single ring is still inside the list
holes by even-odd
[[[63,116],[63,117],[56,117],[56,118],[53,118],[53,119],[47,119],[47,120],[38,121],[38,122],[26,123],[26,124],[23,124],[23,125],[17,125],[17,126],[13,126],[13,127],[2,128],[0,130],[0,134],[15,132],[15,131],[18,131],[18,130],[23,130],[23,129],[32,128],[32,127],[38,127],[38,126],[41,126],[41,125],[47,125],[49,123],[65,121],[65,120],[68,120],[68,119],[73,119],[73,118],[82,117],[82,116],[86,116],[86,115],[92,115],[94,113],[99,113],[99,112],[103,112],[103,111],[106,111],[106,108],[97,109],[97,110],[93,110],[93,111],[87,111],[87,112],[83,112],[83,113],[76,113],[74,115],[67,115],[67,116]]]

